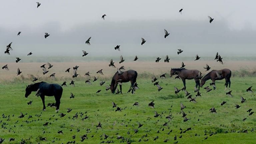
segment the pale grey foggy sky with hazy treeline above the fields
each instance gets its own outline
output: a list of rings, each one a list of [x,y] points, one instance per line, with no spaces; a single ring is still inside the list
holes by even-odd
[[[36,2],[0,2],[0,56],[10,42],[15,56],[30,51],[35,56],[80,55],[81,50],[101,56],[174,55],[177,48],[187,51],[185,56],[255,54],[253,0],[40,0],[39,8]],[[214,18],[211,24],[208,15]],[[170,33],[166,39],[164,29]],[[141,37],[147,40],[143,46]],[[114,50],[117,44],[120,52]]]

